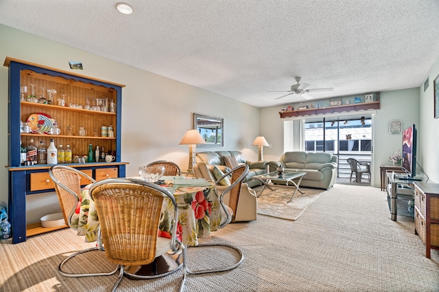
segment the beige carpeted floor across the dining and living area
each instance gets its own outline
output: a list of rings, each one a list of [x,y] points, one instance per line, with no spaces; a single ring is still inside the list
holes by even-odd
[[[439,250],[425,258],[413,219],[398,220],[390,220],[379,188],[335,185],[296,221],[259,215],[202,240],[239,245],[244,263],[233,271],[190,275],[185,291],[439,291]],[[66,254],[91,245],[69,229],[16,245],[0,241],[0,291],[109,291],[116,275],[78,279],[56,271]],[[95,256],[78,266],[103,265],[102,252]],[[193,268],[226,259],[189,248]],[[180,276],[124,278],[117,291],[178,291]]]

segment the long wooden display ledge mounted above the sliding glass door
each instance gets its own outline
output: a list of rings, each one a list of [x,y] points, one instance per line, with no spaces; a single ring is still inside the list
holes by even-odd
[[[379,109],[379,101],[370,103],[353,103],[350,105],[333,105],[332,107],[318,107],[313,109],[295,109],[294,111],[279,111],[281,118],[297,116],[311,116],[319,114],[334,114],[347,111],[366,111],[368,109]]]

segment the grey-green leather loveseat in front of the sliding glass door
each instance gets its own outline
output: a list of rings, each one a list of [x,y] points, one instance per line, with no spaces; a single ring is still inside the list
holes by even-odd
[[[279,165],[287,172],[306,172],[300,187],[329,189],[337,177],[337,159],[337,156],[327,152],[294,151],[285,152],[279,161],[270,161],[268,165],[270,172],[276,171]]]

